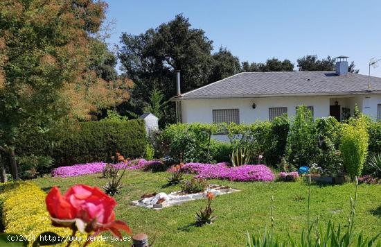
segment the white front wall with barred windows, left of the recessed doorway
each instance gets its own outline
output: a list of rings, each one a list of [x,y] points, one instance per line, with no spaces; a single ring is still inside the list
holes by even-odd
[[[256,103],[256,109],[252,108]],[[269,108],[287,107],[287,114],[296,114],[296,106],[314,107],[314,118],[327,117],[330,111],[329,96],[271,97],[253,99],[190,99],[181,101],[183,123],[212,123],[213,110],[239,109],[240,123],[252,123],[256,120],[268,120]]]

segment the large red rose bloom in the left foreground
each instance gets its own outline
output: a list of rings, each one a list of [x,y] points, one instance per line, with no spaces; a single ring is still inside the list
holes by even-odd
[[[94,235],[106,230],[117,237],[121,237],[119,230],[131,235],[126,223],[115,221],[115,205],[114,198],[89,185],[74,185],[64,196],[57,187],[53,187],[46,196],[46,207],[53,225],[76,226],[80,231],[95,231]]]

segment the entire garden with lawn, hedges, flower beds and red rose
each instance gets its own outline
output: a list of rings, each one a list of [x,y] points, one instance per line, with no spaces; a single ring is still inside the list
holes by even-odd
[[[292,119],[177,123],[149,137],[139,120],[69,131],[45,153],[21,146],[21,179],[0,185],[2,243],[380,244],[381,124],[360,113],[313,121],[300,107]]]

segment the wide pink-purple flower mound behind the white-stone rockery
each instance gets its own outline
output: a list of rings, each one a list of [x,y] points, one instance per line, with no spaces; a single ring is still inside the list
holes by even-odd
[[[269,182],[275,178],[274,173],[263,164],[245,164],[240,167],[228,167],[226,163],[187,163],[181,170],[197,174],[196,178],[216,178],[240,182]]]

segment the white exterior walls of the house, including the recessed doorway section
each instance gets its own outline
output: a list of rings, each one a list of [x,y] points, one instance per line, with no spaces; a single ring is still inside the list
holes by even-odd
[[[269,119],[269,108],[287,107],[287,114],[296,114],[297,105],[314,107],[314,119],[328,117],[330,105],[338,102],[341,108],[350,108],[351,116],[355,105],[364,114],[377,120],[378,104],[381,104],[381,94],[348,95],[348,96],[293,96],[245,99],[189,99],[181,101],[181,116],[183,123],[213,123],[213,110],[239,109],[240,123],[253,123],[256,120]],[[256,109],[252,108],[256,103]]]

